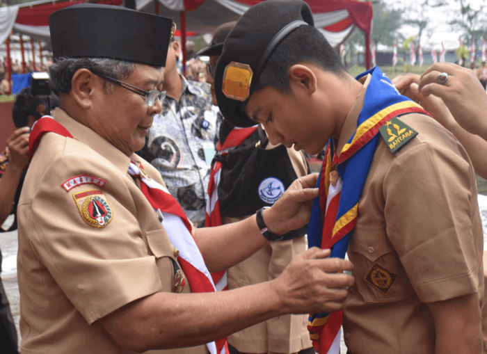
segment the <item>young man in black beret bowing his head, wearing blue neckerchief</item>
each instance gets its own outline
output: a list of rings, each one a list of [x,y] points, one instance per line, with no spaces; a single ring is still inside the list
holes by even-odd
[[[343,316],[353,354],[481,353],[483,235],[467,153],[440,124],[411,113],[422,108],[378,68],[354,80],[312,24],[303,1],[250,8],[227,36],[215,76],[218,106],[233,124],[262,123],[271,143],[309,154],[332,138],[317,201],[320,223],[327,206],[321,246],[333,245],[332,255],[348,248],[356,285],[342,314],[312,316],[312,339],[323,349],[330,338],[320,330]],[[335,161],[341,194],[329,186]]]

